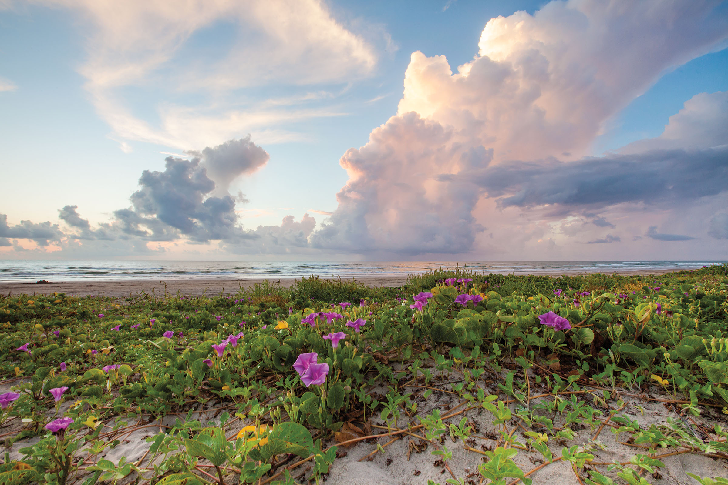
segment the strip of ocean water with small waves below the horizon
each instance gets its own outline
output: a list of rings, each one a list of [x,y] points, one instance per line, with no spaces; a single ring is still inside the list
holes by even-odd
[[[689,270],[726,261],[47,261],[0,260],[0,281],[407,276],[455,265],[481,273],[613,273]]]

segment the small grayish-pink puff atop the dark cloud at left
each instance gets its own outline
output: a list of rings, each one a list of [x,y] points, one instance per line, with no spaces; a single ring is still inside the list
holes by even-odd
[[[255,172],[270,159],[269,154],[250,141],[250,135],[240,140],[228,140],[215,148],[189,151],[207,170],[207,177],[215,182],[215,192],[227,193],[230,183],[243,174]]]

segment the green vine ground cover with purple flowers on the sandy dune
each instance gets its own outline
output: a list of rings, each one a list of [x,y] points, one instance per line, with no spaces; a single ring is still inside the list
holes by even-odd
[[[347,446],[386,437],[373,450],[384,453],[405,436],[451,484],[529,484],[558,461],[581,484],[652,483],[665,457],[728,459],[727,290],[723,265],[0,297],[0,484],[318,482]],[[459,404],[424,412],[445,395]],[[675,419],[645,428],[622,413],[625,396],[671,406]],[[474,409],[490,436],[476,433]],[[141,458],[106,459],[165,417]],[[584,430],[586,442],[570,443]],[[603,430],[633,456],[597,464]],[[452,470],[454,444],[479,455],[477,470]],[[540,464],[518,465],[526,452]]]

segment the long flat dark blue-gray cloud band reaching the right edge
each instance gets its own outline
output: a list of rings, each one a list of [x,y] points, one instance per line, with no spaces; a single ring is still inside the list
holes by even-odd
[[[728,190],[728,145],[573,162],[513,162],[486,167],[472,180],[496,197],[500,207],[559,204],[598,209],[623,202],[672,207]]]

